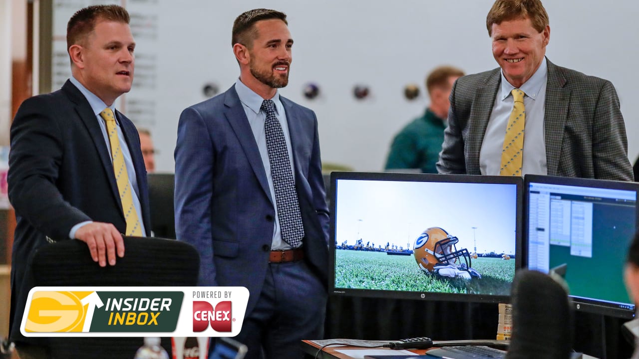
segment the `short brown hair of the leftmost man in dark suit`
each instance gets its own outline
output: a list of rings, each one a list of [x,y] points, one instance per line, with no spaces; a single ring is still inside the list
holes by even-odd
[[[66,50],[82,42],[95,29],[95,23],[100,20],[123,22],[128,24],[128,11],[118,5],[93,5],[82,8],[73,14],[66,24]]]

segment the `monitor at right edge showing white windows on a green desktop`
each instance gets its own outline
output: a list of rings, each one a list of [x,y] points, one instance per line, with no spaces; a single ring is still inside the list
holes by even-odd
[[[633,317],[623,267],[638,190],[635,182],[525,176],[526,265],[564,276],[574,309]]]

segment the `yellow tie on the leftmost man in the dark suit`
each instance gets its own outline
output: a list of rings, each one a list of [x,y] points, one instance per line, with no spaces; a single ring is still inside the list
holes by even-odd
[[[107,134],[109,135],[109,142],[111,143],[113,171],[115,172],[116,182],[118,183],[122,210],[127,220],[127,236],[141,237],[142,229],[140,227],[140,218],[133,205],[133,188],[131,188],[128,182],[127,165],[124,163],[124,155],[122,155],[122,148],[119,145],[116,118],[109,107],[100,112],[100,116],[104,118],[107,124]]]

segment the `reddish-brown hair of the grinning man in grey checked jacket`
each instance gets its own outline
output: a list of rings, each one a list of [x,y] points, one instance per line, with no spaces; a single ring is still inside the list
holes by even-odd
[[[488,36],[493,36],[493,24],[515,19],[530,19],[532,27],[539,33],[550,24],[540,0],[497,0],[486,16]]]

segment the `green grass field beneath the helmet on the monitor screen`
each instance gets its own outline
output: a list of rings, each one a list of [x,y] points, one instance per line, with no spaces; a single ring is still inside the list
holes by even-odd
[[[448,279],[427,275],[415,257],[389,256],[386,252],[336,250],[335,288],[383,289],[439,293],[509,295],[515,261],[501,258],[472,259],[481,279]]]

